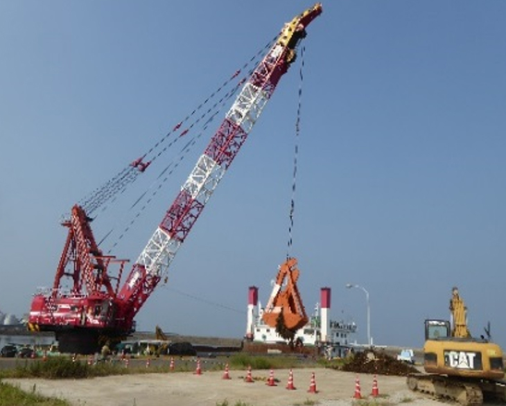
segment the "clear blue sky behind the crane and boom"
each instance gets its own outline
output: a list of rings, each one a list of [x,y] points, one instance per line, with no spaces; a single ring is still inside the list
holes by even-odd
[[[53,283],[62,214],[312,4],[1,1],[0,310],[27,312],[37,286]],[[506,346],[506,2],[323,8],[304,40],[292,250],[308,312],[330,286],[333,318],[356,321],[365,342],[365,294],[344,288],[357,283],[374,342],[421,346],[424,319],[449,317],[457,285],[472,333],[491,321]],[[139,329],[242,337],[247,288],[267,301],[286,256],[298,71],[281,80]],[[114,254],[137,259],[212,132]],[[99,216],[97,239],[126,218]]]

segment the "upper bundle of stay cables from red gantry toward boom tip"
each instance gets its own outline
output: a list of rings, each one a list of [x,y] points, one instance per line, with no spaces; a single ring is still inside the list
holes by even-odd
[[[184,126],[184,124],[190,121],[190,119],[193,118],[193,116],[198,111],[200,111],[200,109],[204,108],[204,106],[207,105],[207,103],[209,103],[209,100],[216,97],[217,94],[219,94],[221,91],[223,91],[223,89],[225,89],[228,85],[234,82],[234,80],[236,80],[236,78],[241,74],[241,72],[245,71],[245,69],[247,69],[247,67],[256,62],[256,60],[262,58],[263,55],[265,54],[265,50],[270,48],[272,44],[275,42],[275,40],[276,37],[271,39],[270,42],[268,42],[268,44],[263,46],[263,48],[261,48],[256,54],[254,54],[250,58],[250,60],[245,62],[245,64],[243,64],[243,67],[236,70],[235,73],[232,74],[232,76],[230,76],[227,80],[225,80],[225,82],[223,82],[223,84],[220,87],[218,87],[218,89],[213,91],[213,93],[211,93],[202,103],[200,103],[198,107],[195,107],[195,109],[193,109],[193,111],[190,114],[188,114],[182,121],[180,121],[180,123],[177,123],[177,125],[175,125],[172,130],[170,130],[167,134],[162,136],[162,139],[159,139],[159,141],[157,141],[155,145],[152,145],[152,147],[143,155],[141,155],[141,157],[139,157],[131,164],[120,170],[119,173],[114,175],[111,179],[107,180],[107,182],[105,182],[104,184],[96,188],[94,191],[89,193],[87,196],[85,196],[82,200],[80,200],[79,202],[80,206],[82,206],[85,209],[88,215],[94,213],[99,207],[103,206],[105,202],[112,200],[112,198],[118,195],[119,193],[120,194],[123,193],[123,191],[125,191],[125,188],[127,188],[130,184],[132,184],[137,179],[137,177],[141,173],[143,173],[144,170],[146,170],[146,168],[148,168],[148,166],[150,166],[150,164],[152,164],[153,161],[155,161],[155,159],[157,159],[160,155],[162,155],[171,145],[177,142],[178,139],[186,135],[189,132],[189,130],[191,130],[198,122],[202,121],[202,119],[212,111],[213,107],[208,109],[207,112],[202,114],[200,118],[197,118],[195,121],[193,121],[193,123],[191,123],[188,127]],[[251,71],[252,69],[250,69],[250,72]],[[238,91],[241,84],[242,83],[240,82],[240,85],[234,86],[234,94],[236,91]],[[158,150],[164,144],[166,139],[168,139],[169,136],[175,133],[179,134],[179,136],[177,136],[177,139],[175,139],[169,145],[165,145],[164,148],[162,148],[162,150]],[[150,157],[151,154],[154,155]]]

